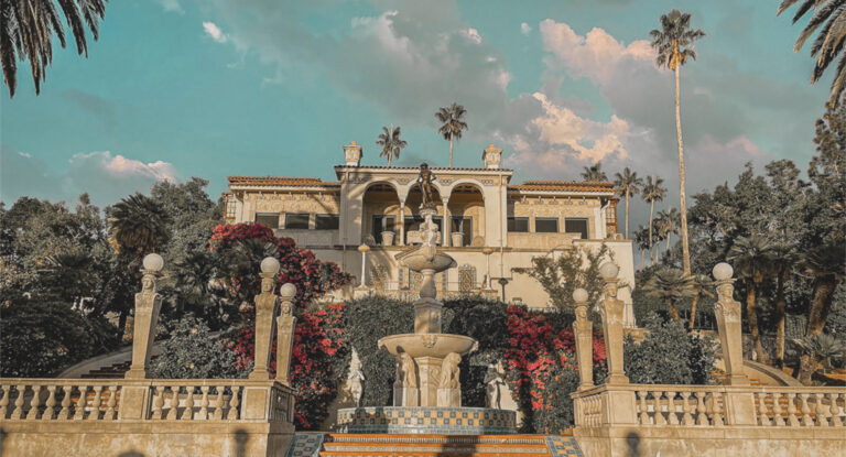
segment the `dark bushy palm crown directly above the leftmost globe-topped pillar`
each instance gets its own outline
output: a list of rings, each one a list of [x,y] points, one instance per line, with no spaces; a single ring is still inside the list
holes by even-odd
[[[109,233],[121,251],[132,251],[141,257],[158,251],[170,239],[170,216],[145,195],[130,195],[107,211]]]

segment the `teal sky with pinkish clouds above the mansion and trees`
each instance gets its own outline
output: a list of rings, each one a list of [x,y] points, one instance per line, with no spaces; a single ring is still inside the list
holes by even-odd
[[[39,96],[24,65],[13,99],[2,87],[0,200],[87,192],[105,206],[191,176],[213,197],[228,175],[335,179],[350,141],[384,164],[375,141],[389,124],[409,143],[395,164],[445,166],[434,112],[456,101],[469,124],[456,166],[481,166],[489,143],[514,183],[577,179],[601,161],[609,176],[663,177],[661,207],[677,206],[674,86],[649,31],[679,8],[707,33],[681,75],[695,194],[747,162],[804,168],[814,153],[831,79],[809,84],[813,61],[792,51],[804,21],[778,3],[111,1],[88,58],[55,51]]]

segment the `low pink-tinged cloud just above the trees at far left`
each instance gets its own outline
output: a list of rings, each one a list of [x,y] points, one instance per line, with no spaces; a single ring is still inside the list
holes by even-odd
[[[148,192],[156,181],[180,181],[182,175],[170,163],[144,163],[109,151],[74,154],[67,168],[51,173],[43,160],[2,146],[0,155],[0,200],[12,204],[21,196],[74,202],[88,193],[100,206],[119,198]]]

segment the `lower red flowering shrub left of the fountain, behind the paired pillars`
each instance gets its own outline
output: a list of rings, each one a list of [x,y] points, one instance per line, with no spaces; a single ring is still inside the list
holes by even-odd
[[[294,388],[297,429],[317,429],[328,414],[338,385],[347,371],[347,345],[344,342],[344,304],[327,309],[301,311],[296,317],[289,381]],[[238,336],[235,352],[238,368],[246,369],[254,357],[254,327]],[[276,342],[271,349],[270,371],[276,372]]]

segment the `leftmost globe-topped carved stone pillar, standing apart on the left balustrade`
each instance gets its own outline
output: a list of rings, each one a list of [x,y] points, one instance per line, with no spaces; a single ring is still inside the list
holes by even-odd
[[[164,260],[159,254],[144,257],[141,269],[141,292],[135,294],[135,319],[132,333],[132,366],[126,374],[127,379],[147,378],[147,364],[150,363],[150,352],[155,339],[155,325],[159,322],[159,311],[162,307],[162,296],[155,293],[155,278],[162,270]]]

